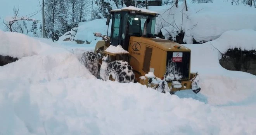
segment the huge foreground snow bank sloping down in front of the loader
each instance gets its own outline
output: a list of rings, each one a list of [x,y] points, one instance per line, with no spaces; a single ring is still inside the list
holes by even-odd
[[[256,133],[254,118],[138,83],[96,79],[57,47],[0,67],[0,110],[3,134]]]

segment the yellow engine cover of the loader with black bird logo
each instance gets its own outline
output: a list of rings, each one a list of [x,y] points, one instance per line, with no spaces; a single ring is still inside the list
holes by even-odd
[[[178,46],[179,49],[175,46]],[[190,52],[190,49],[170,40],[130,37],[128,46],[128,52],[130,52],[131,56],[130,65],[135,71],[137,71],[135,74],[140,73],[136,76],[137,79],[138,77],[145,76],[145,74],[147,74],[147,72],[142,70],[146,47],[152,48],[152,56],[150,59],[149,67],[154,69],[154,75],[158,78],[164,77],[164,73],[166,72],[167,51]]]

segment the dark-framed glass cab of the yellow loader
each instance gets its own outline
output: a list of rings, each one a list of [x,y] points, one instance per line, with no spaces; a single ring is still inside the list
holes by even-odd
[[[111,10],[110,42],[113,46],[121,45],[128,50],[131,36],[155,38],[156,13],[137,10]]]

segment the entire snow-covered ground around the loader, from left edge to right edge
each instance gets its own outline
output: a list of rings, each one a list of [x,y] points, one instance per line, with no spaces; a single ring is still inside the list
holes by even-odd
[[[211,44],[187,44],[202,90],[170,95],[139,83],[96,79],[78,61],[80,52],[73,51],[91,50],[86,44],[58,44],[0,31],[0,47],[6,48],[0,54],[20,58],[0,67],[0,131],[17,135],[254,135],[256,76],[221,68],[219,52],[213,47],[239,40],[241,47],[250,47],[252,38],[242,42],[249,36],[245,33],[253,36],[256,32],[229,31]]]

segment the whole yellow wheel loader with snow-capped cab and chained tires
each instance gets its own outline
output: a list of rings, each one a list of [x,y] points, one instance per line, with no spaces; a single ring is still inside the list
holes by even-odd
[[[102,40],[93,55],[83,54],[81,62],[92,73],[99,71],[103,80],[138,82],[163,93],[184,89],[198,93],[197,73],[190,73],[190,49],[154,36],[158,15],[132,6],[111,10],[106,22],[112,20],[110,36],[95,32]]]

